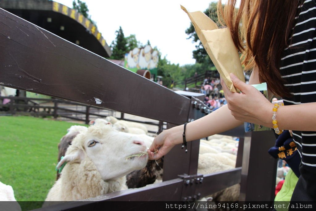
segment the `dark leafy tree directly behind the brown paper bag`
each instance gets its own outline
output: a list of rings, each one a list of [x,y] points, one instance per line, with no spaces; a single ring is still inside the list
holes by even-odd
[[[209,16],[214,22],[218,22],[217,18],[217,3],[212,2],[210,3],[210,9],[206,9],[204,14]],[[210,69],[211,66],[214,66],[209,55],[206,53],[201,41],[199,40],[197,33],[191,23],[190,27],[185,30],[185,33],[189,35],[187,39],[192,39],[192,42],[196,42],[197,45],[196,50],[192,52],[193,58],[196,60],[197,63],[204,64],[204,67]]]

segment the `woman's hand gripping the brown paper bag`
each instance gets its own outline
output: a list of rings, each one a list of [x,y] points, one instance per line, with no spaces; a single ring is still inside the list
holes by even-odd
[[[259,90],[240,81],[234,74],[231,73],[230,78],[234,86],[242,92],[230,92],[225,82],[221,79],[228,109],[235,119],[272,127],[273,104]]]

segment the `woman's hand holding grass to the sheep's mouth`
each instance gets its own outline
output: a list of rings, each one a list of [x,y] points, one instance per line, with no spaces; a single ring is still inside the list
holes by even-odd
[[[150,160],[157,160],[167,154],[173,146],[176,144],[173,143],[172,138],[169,136],[169,130],[165,130],[155,137],[153,143],[147,150],[148,157]],[[182,137],[182,136],[181,136]]]

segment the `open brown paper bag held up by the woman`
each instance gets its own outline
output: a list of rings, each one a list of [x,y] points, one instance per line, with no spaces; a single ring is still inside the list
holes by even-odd
[[[229,29],[218,28],[216,23],[201,11],[188,12],[182,5],[181,9],[188,14],[198,38],[228,89],[232,92],[240,92],[234,87],[229,77],[229,73],[234,73],[236,77],[245,82],[239,54]]]

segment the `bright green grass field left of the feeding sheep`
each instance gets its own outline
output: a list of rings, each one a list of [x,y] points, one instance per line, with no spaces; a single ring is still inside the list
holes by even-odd
[[[44,201],[56,179],[58,143],[76,123],[0,116],[0,181],[17,201]]]

